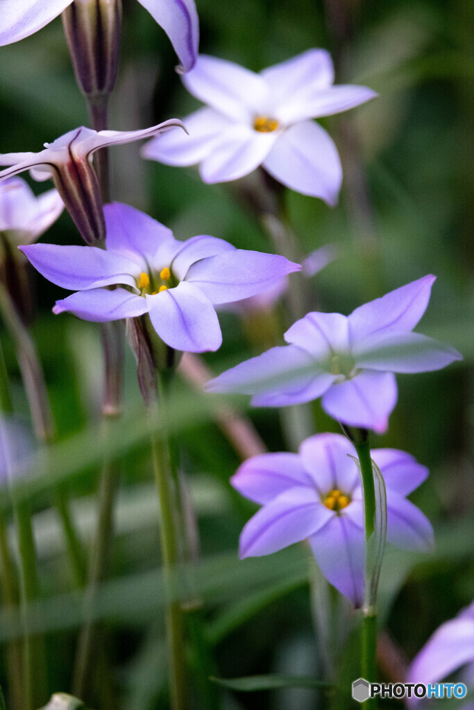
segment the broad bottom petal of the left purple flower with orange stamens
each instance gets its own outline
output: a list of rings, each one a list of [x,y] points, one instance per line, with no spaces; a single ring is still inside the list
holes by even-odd
[[[187,352],[215,351],[222,343],[210,300],[191,283],[146,296],[153,328],[167,345]]]

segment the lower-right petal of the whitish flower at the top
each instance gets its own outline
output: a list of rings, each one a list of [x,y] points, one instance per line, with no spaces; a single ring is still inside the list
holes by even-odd
[[[263,167],[291,190],[321,197],[331,207],[338,202],[343,180],[339,153],[329,134],[313,121],[286,129],[264,159]]]

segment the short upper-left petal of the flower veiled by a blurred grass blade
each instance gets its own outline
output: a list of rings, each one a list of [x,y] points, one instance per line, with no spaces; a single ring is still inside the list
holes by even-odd
[[[284,334],[284,339],[323,361],[329,359],[333,352],[348,352],[348,318],[340,313],[313,311],[293,323]]]

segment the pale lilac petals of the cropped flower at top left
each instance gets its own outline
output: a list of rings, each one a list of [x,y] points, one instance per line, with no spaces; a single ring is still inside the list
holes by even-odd
[[[80,2],[81,0],[75,0]],[[99,0],[107,3],[108,0]],[[60,15],[72,0],[1,0],[0,45],[32,35]],[[194,0],[139,0],[166,32],[181,62],[190,70],[198,56],[199,21]]]

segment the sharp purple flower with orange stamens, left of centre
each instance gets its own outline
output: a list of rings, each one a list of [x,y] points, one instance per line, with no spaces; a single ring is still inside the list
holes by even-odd
[[[178,241],[126,204],[107,204],[104,213],[107,251],[53,244],[21,251],[50,281],[78,290],[58,301],[55,313],[103,322],[148,312],[159,337],[176,350],[217,350],[222,334],[214,305],[259,293],[301,268],[205,234]],[[104,288],[111,285],[119,288]]]

